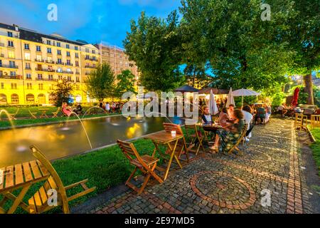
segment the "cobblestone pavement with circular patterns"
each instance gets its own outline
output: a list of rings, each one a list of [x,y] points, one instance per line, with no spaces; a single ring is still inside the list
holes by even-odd
[[[291,120],[274,118],[254,128],[245,155],[201,153],[162,185],[139,196],[129,190],[92,212],[312,213],[296,137]]]

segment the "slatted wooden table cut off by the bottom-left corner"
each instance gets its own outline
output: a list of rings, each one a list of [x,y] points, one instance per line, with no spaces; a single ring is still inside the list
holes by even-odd
[[[38,160],[3,167],[0,170],[3,172],[2,175],[0,172],[0,195],[4,196],[0,201],[0,214],[13,214],[18,206],[29,212],[28,205],[22,201],[23,197],[32,185],[48,179],[48,170]],[[16,196],[13,192],[18,189],[21,189],[21,192]],[[3,206],[8,200],[14,203],[6,211]]]

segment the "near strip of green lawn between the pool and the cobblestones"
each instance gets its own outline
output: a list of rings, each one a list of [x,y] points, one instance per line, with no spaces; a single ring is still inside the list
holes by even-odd
[[[134,141],[137,150],[142,154],[151,155],[154,145],[151,140],[139,139]],[[161,164],[162,161],[160,161]],[[112,186],[119,185],[125,182],[132,172],[132,166],[129,161],[122,154],[122,151],[117,145],[107,147],[103,150],[89,152],[83,155],[76,155],[74,157],[56,160],[53,162],[53,167],[60,175],[64,185],[70,185],[83,179],[89,179],[87,182],[88,187],[97,187],[95,192],[90,195],[75,199],[70,203],[70,206],[85,202],[90,197],[93,197],[101,192],[105,192]],[[28,195],[25,197],[25,202],[28,201],[39,185],[35,185],[29,190]],[[69,194],[75,194],[77,190],[69,191]],[[0,198],[1,200],[1,198]],[[9,204],[6,204],[6,208]],[[61,212],[60,207],[51,210],[49,213]],[[22,209],[18,208],[16,213],[25,213]]]

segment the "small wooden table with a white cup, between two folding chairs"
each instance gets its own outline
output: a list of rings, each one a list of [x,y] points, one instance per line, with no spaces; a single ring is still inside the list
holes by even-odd
[[[178,145],[178,141],[183,139],[183,148],[181,150],[184,150],[186,152],[186,157],[187,157],[187,162],[189,162],[189,156],[188,156],[188,151],[187,151],[187,147],[186,147],[186,140],[184,140],[184,136],[183,135],[179,135],[176,134],[176,137],[172,137],[171,133],[167,133],[166,131],[159,131],[157,133],[151,134],[151,135],[146,135],[145,137],[146,139],[152,140],[152,142],[154,143],[154,153],[153,155],[155,155],[156,151],[159,152],[159,154],[164,157],[164,153],[159,149],[159,145],[165,145],[166,147],[168,147],[170,152],[170,159],[168,162],[168,165],[166,167],[166,169],[164,170],[164,180],[166,180],[166,178],[168,177],[169,174],[169,170],[171,167],[171,163],[172,160],[175,159],[176,162],[178,163],[179,167],[182,169],[182,165],[178,159],[178,157],[176,156],[176,147]],[[172,143],[173,142],[173,143]],[[172,147],[172,145],[174,144],[174,147]]]

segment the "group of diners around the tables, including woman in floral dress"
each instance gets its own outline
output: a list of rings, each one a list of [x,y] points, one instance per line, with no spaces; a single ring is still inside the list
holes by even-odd
[[[242,110],[235,108],[235,105],[230,105],[229,108],[222,108],[218,119],[215,120],[215,123],[218,123],[222,128],[212,131],[215,135],[215,142],[210,147],[210,151],[228,152],[242,135],[245,124],[247,124],[245,140],[249,141],[254,123],[257,123],[259,119],[265,123],[266,120],[269,121],[270,115],[271,107],[267,104],[264,106],[257,105],[255,109],[252,109],[250,105],[245,105]],[[206,130],[206,125],[213,123],[208,106],[203,107],[201,118],[203,128]]]

